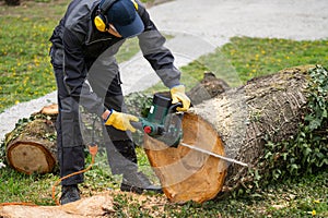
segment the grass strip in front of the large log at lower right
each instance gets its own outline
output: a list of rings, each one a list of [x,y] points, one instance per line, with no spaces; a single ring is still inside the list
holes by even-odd
[[[297,182],[297,184],[296,184]],[[325,189],[318,189],[318,186]],[[319,217],[327,216],[327,171],[308,179],[282,181],[257,195],[230,197],[225,201],[211,201],[202,205],[189,203],[175,217]],[[169,206],[177,208],[176,205]],[[172,216],[173,217],[173,216]]]

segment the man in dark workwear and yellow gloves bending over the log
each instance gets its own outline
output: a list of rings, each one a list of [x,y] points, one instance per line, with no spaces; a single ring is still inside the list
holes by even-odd
[[[50,38],[51,64],[57,87],[59,116],[57,143],[60,175],[84,168],[83,138],[79,125],[79,106],[98,114],[106,125],[106,149],[114,174],[122,174],[121,191],[160,191],[138,171],[130,121],[125,113],[119,70],[114,58],[126,38],[138,36],[140,49],[163,83],[171,89],[173,102],[189,108],[190,100],[179,83],[165,38],[139,1],[73,0]],[[61,204],[80,198],[78,184],[83,174],[62,181]]]

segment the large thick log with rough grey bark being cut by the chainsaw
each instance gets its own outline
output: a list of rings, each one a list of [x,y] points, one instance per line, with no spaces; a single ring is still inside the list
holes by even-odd
[[[206,100],[184,116],[183,142],[257,165],[263,145],[288,141],[297,132],[307,102],[311,66],[286,69]],[[249,170],[187,147],[167,148],[145,137],[151,166],[172,202],[213,198],[244,182]]]

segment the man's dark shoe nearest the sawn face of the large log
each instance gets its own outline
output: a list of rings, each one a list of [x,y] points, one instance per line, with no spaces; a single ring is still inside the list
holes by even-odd
[[[142,172],[124,174],[120,191],[134,192],[137,194],[142,194],[143,191],[163,193],[162,187],[152,184]]]

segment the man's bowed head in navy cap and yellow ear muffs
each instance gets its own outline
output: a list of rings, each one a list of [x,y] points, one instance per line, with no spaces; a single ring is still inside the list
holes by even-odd
[[[112,26],[124,38],[133,37],[144,29],[137,10],[133,0],[102,0],[94,23],[98,31],[106,32]]]

